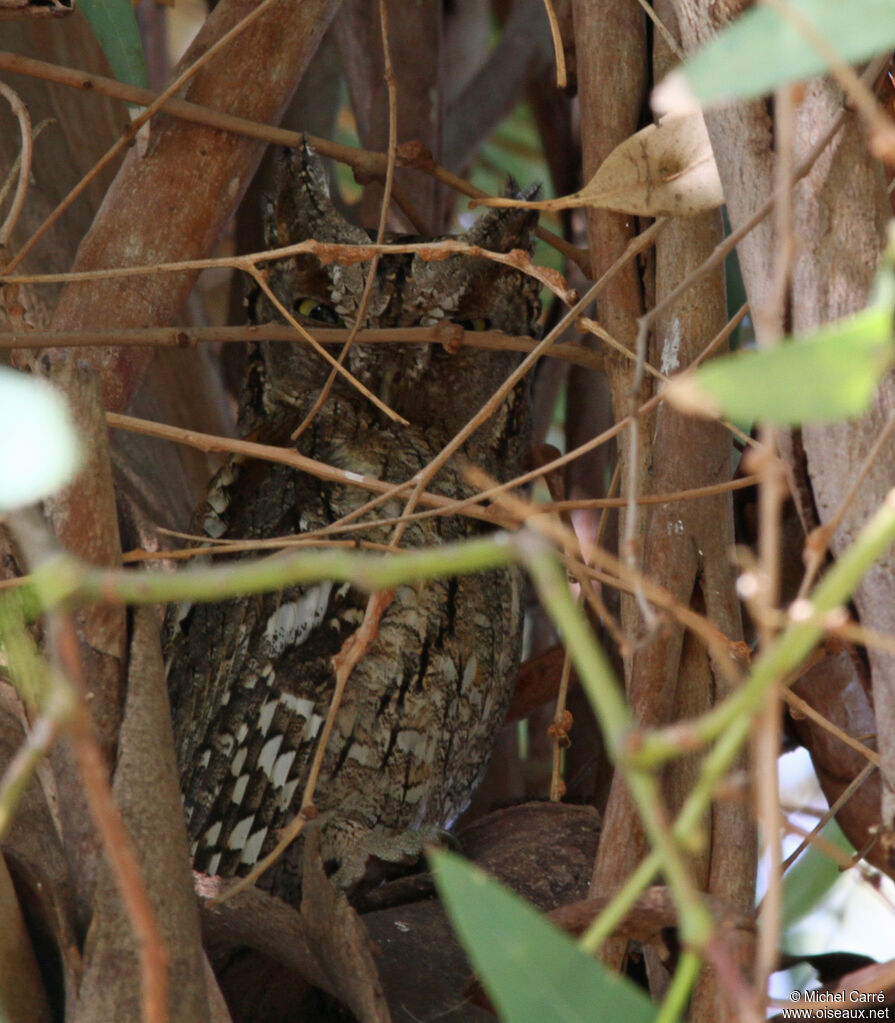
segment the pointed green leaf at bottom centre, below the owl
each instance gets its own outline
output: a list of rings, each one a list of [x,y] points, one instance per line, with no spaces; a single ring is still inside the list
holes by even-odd
[[[651,1023],[656,1006],[484,871],[430,854],[439,893],[504,1023]]]

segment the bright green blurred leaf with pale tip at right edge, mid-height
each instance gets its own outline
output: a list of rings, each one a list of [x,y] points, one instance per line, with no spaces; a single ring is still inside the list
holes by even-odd
[[[740,352],[674,377],[668,399],[684,411],[780,426],[860,415],[892,361],[892,307],[875,301],[777,348]]]

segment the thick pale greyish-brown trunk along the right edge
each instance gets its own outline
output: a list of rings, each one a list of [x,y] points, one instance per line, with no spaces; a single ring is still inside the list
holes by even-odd
[[[677,0],[687,52],[711,38],[742,4],[709,0]],[[833,118],[844,96],[826,79],[808,83],[795,116],[795,157],[807,155]],[[724,185],[733,228],[744,223],[766,201],[773,188],[772,121],[763,101],[736,103],[711,112],[706,122]],[[886,182],[879,163],[868,153],[856,114],[849,114],[814,169],[795,189],[796,257],[789,308],[792,327],[804,332],[866,305],[885,225],[891,216]],[[769,290],[777,239],[768,220],[737,248],[743,278],[753,309],[756,329],[778,331],[782,324],[768,320]],[[802,442],[815,510],[821,524],[839,508],[885,422],[895,414],[895,376],[883,380],[870,410],[860,419],[831,426],[806,426]],[[833,538],[834,553],[851,544],[895,480],[895,450],[881,452],[849,511]],[[861,623],[891,633],[895,628],[895,552],[885,554],[855,593]],[[895,658],[869,650],[874,703],[882,759],[882,821],[887,833],[895,828]],[[891,849],[892,840],[888,839]],[[890,855],[890,862],[895,858]]]

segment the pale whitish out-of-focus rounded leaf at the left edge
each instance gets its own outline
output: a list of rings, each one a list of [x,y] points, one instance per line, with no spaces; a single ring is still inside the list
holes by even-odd
[[[79,461],[62,396],[45,381],[0,367],[0,513],[48,497]]]

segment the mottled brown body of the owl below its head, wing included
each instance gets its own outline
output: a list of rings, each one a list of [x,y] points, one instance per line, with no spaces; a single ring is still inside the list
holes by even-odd
[[[412,432],[397,447],[395,437],[346,431],[348,420],[326,432],[332,447],[314,453],[393,481],[411,478],[431,456]],[[446,485],[465,492],[453,472]],[[283,535],[331,523],[363,500],[355,488],[286,466],[233,460],[210,488],[197,526],[234,537]],[[400,502],[377,514],[399,510]],[[405,538],[435,545],[477,530],[467,520],[429,519]],[[368,535],[382,539],[383,530],[371,525]],[[322,582],[172,609],[168,677],[197,869],[245,873],[298,810],[333,691],[331,659],[365,603],[348,585]],[[513,572],[398,587],[352,672],[314,796],[321,852],[341,884],[356,881],[369,855],[412,857],[419,839],[414,846],[408,836],[450,824],[466,805],[505,711],[520,626]],[[266,880],[286,898],[298,891],[297,857],[290,850]]]

